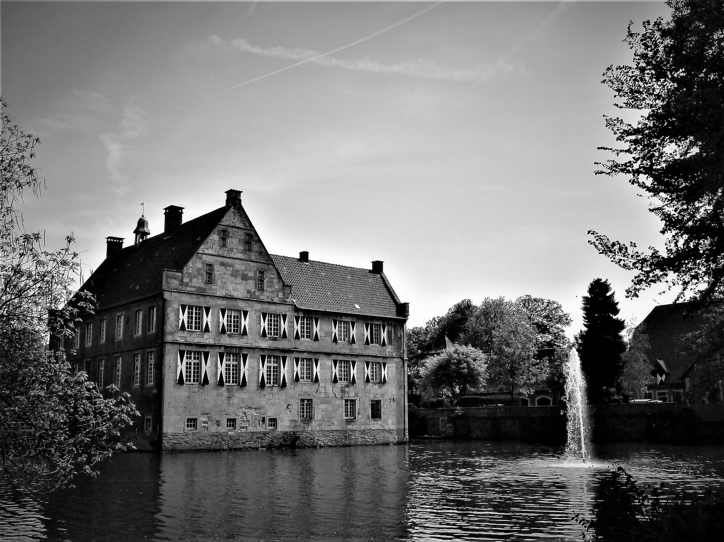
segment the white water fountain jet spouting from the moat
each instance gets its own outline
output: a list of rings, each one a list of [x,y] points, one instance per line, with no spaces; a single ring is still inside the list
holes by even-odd
[[[591,459],[586,379],[581,373],[581,360],[575,348],[571,348],[571,355],[568,356],[568,363],[565,365],[565,404],[568,407],[568,419],[565,424],[568,442],[565,445],[565,452],[571,460],[586,462]]]

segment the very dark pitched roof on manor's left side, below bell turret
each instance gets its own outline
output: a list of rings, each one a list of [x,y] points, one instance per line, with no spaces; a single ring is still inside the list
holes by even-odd
[[[119,250],[98,266],[81,289],[96,295],[98,308],[160,294],[164,269],[181,271],[226,213],[227,207],[218,208],[181,224],[171,234],[154,235]]]

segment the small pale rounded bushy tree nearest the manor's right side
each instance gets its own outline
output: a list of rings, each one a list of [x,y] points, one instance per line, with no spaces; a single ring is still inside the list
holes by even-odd
[[[485,355],[476,348],[455,344],[451,350],[426,360],[420,372],[421,389],[427,395],[445,391],[457,401],[484,384]]]

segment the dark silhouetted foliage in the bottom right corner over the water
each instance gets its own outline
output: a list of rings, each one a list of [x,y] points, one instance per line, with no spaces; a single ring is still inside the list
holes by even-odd
[[[584,541],[716,540],[724,528],[724,495],[641,486],[618,467],[598,487],[594,519],[576,514]]]

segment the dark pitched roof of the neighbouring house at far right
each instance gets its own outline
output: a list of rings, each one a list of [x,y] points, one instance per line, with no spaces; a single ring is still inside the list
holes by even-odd
[[[649,361],[654,364],[658,360],[673,381],[682,378],[695,360],[694,354],[683,349],[684,337],[704,326],[702,316],[690,314],[693,308],[689,302],[659,305],[637,326],[649,336]]]

